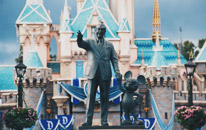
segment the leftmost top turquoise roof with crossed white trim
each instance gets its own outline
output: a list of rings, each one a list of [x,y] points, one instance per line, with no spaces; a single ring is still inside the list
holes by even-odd
[[[27,0],[16,24],[51,24],[42,0]]]

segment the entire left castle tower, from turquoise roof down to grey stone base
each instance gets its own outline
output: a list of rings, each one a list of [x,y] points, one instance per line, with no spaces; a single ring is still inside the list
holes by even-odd
[[[23,60],[27,66],[23,79],[23,105],[35,108],[38,118],[40,113],[44,114],[41,104],[45,103],[46,88],[52,77],[51,69],[47,68],[51,24],[52,20],[44,8],[43,0],[27,0],[16,21],[17,36],[23,47]],[[17,84],[16,74],[14,80]]]

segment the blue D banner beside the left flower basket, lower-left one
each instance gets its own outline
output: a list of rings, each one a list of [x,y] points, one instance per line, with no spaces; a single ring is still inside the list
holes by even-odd
[[[39,121],[43,130],[56,130],[59,125],[58,119],[42,119]]]

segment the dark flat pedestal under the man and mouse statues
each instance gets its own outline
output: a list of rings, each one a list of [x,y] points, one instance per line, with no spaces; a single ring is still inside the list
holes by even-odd
[[[79,130],[144,130],[144,125],[128,125],[128,126],[80,126]]]

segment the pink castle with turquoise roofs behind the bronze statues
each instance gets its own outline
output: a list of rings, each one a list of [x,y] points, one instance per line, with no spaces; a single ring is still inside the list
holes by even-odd
[[[169,124],[173,103],[175,107],[187,104],[188,80],[184,74],[184,64],[187,61],[168,38],[162,37],[160,21],[158,0],[154,0],[152,36],[135,38],[133,0],[110,0],[109,5],[105,0],[77,0],[77,15],[74,19],[70,18],[65,0],[60,25],[52,24],[50,11],[46,11],[43,0],[27,0],[16,21],[17,36],[23,47],[23,61],[27,66],[23,81],[26,105],[37,108],[42,100],[40,118],[54,118],[56,114],[69,113],[73,109],[76,118],[74,127],[83,122],[84,103],[79,102],[71,107],[77,99],[72,98],[66,89],[61,89],[59,82],[85,86],[87,54],[77,46],[76,34],[80,30],[84,39],[92,38],[96,25],[104,23],[107,29],[105,39],[114,45],[120,72],[124,74],[130,70],[133,77],[145,76],[160,116],[165,124]],[[57,46],[55,60],[50,57],[52,38]],[[194,75],[196,85],[193,88],[194,104],[202,106],[206,104],[206,59],[202,56],[205,52],[206,44],[195,59],[198,66]],[[13,68],[14,66],[0,67],[1,111],[16,106],[17,77],[13,74]],[[6,77],[3,76],[5,74]],[[119,106],[112,103],[110,106],[109,123],[119,125]],[[149,117],[155,117],[151,105],[145,108]],[[95,111],[98,113],[98,105]],[[95,116],[94,124],[98,125],[99,115]],[[35,129],[38,127],[35,126]],[[155,128],[160,129],[158,125]],[[176,121],[173,122],[173,128],[179,129]]]

